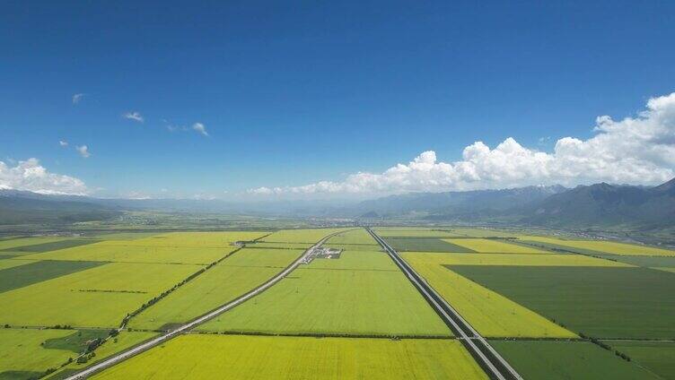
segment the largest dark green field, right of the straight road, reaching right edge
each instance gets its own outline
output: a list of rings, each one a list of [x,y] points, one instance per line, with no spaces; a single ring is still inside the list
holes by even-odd
[[[470,266],[452,272],[599,338],[675,336],[675,277],[632,267]]]

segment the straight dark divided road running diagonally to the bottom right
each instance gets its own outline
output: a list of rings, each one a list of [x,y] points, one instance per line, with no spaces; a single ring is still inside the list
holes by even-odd
[[[469,350],[469,353],[476,359],[478,365],[482,367],[487,376],[491,379],[498,380],[522,380],[518,372],[509,365],[509,363],[502,358],[492,346],[487,343],[478,332],[464,319],[462,316],[448,304],[443,297],[441,297],[413,268],[403,260],[399,253],[391,247],[386,241],[380,238],[372,229],[366,228],[375,240],[384,248],[390,255],[391,259],[396,263],[401,271],[403,271],[408,280],[410,280],[415,288],[422,293],[422,296],[429,302],[431,307],[438,315],[441,316],[443,322],[450,327],[455,336],[462,342],[464,347]]]

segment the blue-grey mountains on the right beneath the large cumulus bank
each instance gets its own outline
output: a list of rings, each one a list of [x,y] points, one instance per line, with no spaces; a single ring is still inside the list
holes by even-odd
[[[675,178],[660,186],[527,186],[391,195],[359,203],[354,215],[570,229],[675,227]]]

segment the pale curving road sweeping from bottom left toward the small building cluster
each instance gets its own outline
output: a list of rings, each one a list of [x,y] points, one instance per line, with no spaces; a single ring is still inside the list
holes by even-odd
[[[341,233],[341,232],[342,231],[336,232],[334,234],[330,234],[329,236],[327,236],[325,238],[322,238],[317,244],[308,248],[293,263],[288,265],[285,268],[284,271],[279,272],[278,274],[276,274],[276,276],[267,280],[267,282],[260,285],[258,288],[250,290],[250,292],[242,295],[240,298],[236,298],[233,301],[228,302],[227,304],[224,304],[223,306],[218,307],[215,310],[210,311],[205,315],[199,316],[199,317],[197,317],[197,319],[194,319],[191,322],[188,322],[187,324],[183,324],[180,327],[176,328],[175,330],[172,330],[170,332],[165,332],[162,335],[160,335],[156,338],[153,338],[153,340],[151,340],[151,341],[146,341],[145,343],[142,343],[142,344],[139,344],[139,345],[137,345],[135,347],[132,347],[130,349],[121,351],[121,352],[111,356],[110,358],[106,358],[105,360],[92,365],[91,367],[86,367],[82,371],[80,371],[78,373],[75,373],[74,375],[71,375],[69,377],[66,377],[66,380],[83,379],[83,378],[86,378],[88,376],[92,376],[93,374],[95,374],[97,372],[100,372],[103,369],[106,369],[108,367],[112,367],[112,366],[118,364],[119,362],[121,362],[123,360],[126,360],[127,358],[131,358],[133,356],[136,356],[136,355],[138,355],[139,353],[141,353],[145,350],[150,350],[153,347],[156,347],[156,346],[162,344],[165,341],[169,341],[172,338],[175,338],[176,336],[180,335],[183,332],[188,332],[189,330],[197,327],[197,325],[204,324],[206,321],[208,321],[210,319],[213,319],[216,316],[221,315],[224,312],[232,309],[232,307],[237,307],[238,305],[241,305],[241,303],[246,302],[250,298],[253,298],[253,297],[259,295],[263,291],[269,289],[271,286],[276,284],[276,282],[281,281],[281,279],[283,279],[286,275],[288,275],[288,273],[293,272],[294,269],[297,268],[298,265],[300,265],[303,262],[305,257],[307,257],[308,255],[311,255],[312,252],[314,251],[314,249],[320,247],[321,245],[323,245],[323,243],[326,242],[326,240],[328,240],[329,238],[332,238],[334,235],[336,235],[338,233]]]

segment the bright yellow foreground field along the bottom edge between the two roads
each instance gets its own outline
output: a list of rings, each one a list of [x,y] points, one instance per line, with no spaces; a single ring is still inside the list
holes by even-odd
[[[454,340],[193,334],[146,351],[93,378],[473,380],[487,376]]]

